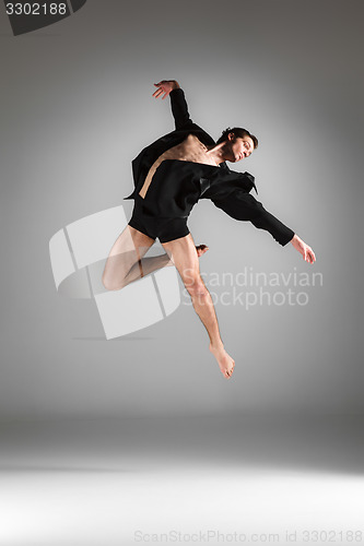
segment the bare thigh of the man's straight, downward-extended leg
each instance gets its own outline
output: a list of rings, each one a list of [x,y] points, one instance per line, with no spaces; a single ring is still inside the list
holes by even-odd
[[[199,258],[191,234],[168,242],[162,242],[162,245],[177,269],[186,288],[193,288],[201,277]]]

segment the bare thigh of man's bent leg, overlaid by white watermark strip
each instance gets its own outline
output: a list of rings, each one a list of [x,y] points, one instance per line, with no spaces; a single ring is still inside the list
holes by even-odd
[[[153,238],[128,224],[114,242],[106,260],[103,273],[104,286],[108,289],[121,288],[122,280],[153,244]]]

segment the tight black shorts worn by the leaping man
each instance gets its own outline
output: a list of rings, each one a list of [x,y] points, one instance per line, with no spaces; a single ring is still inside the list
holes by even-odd
[[[179,239],[190,233],[187,227],[187,217],[158,218],[156,216],[146,216],[142,211],[142,201],[143,199],[140,195],[136,195],[132,216],[128,223],[129,226],[152,239],[157,237],[161,242]]]

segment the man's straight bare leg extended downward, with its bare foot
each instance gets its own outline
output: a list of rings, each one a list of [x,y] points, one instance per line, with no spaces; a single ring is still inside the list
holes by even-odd
[[[191,234],[162,245],[191,297],[195,311],[208,331],[211,353],[216,358],[222,373],[226,378],[231,377],[235,361],[224,349],[213,302],[200,275],[198,253]]]

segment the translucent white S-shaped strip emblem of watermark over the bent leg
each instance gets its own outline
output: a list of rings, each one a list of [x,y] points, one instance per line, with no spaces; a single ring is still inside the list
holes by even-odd
[[[49,241],[50,264],[59,294],[94,299],[107,340],[150,327],[175,311],[180,304],[178,274],[163,268],[122,289],[107,290],[102,283],[109,251],[127,226],[121,205],[85,216]],[[149,253],[158,253],[156,244]],[[156,252],[156,253],[157,253]]]

